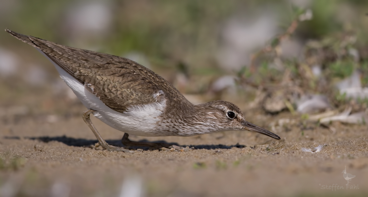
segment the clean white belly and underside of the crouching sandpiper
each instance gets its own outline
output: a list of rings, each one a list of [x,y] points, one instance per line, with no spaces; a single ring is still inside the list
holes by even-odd
[[[40,51],[44,54],[42,51]],[[47,57],[45,55],[45,57]],[[49,60],[50,58],[47,57]],[[52,60],[50,60],[53,62]],[[75,95],[88,109],[95,110],[93,115],[107,125],[125,133],[139,136],[157,136],[160,132],[156,123],[164,111],[166,100],[146,105],[133,105],[124,113],[120,113],[107,107],[95,94],[89,92],[77,79],[69,75],[53,62],[60,77],[73,90]],[[152,97],[154,97],[152,95]]]

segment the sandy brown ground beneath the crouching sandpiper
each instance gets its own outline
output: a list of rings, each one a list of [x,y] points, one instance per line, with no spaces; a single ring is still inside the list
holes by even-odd
[[[47,103],[49,98],[28,100]],[[21,111],[15,104],[1,108],[6,112],[0,122],[0,195],[4,197],[119,196],[135,190],[143,196],[170,197],[368,194],[367,125],[333,123],[333,133],[287,112],[276,116],[258,112],[248,115],[248,120],[273,129],[282,140],[248,131],[130,136],[195,149],[120,153],[91,148],[97,140],[79,115],[84,107],[78,102],[61,105],[72,112],[68,115],[57,114],[54,108],[51,115],[11,115],[12,110]],[[295,121],[272,128],[279,119]],[[92,121],[110,143],[120,143],[122,132],[96,118]],[[318,153],[302,151],[318,145],[323,146]],[[355,175],[348,188],[342,173],[345,166],[347,173]]]

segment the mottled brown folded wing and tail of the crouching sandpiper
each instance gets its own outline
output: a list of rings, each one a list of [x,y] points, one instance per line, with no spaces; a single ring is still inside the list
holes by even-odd
[[[154,93],[163,90],[165,94],[165,89],[172,87],[159,75],[127,58],[67,47],[8,29],[6,31],[43,51],[115,111],[124,112],[130,105],[155,102]],[[160,83],[161,88],[157,83]]]

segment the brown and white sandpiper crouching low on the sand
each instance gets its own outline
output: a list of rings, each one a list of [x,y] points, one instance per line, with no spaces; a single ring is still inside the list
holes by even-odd
[[[194,136],[227,130],[250,130],[279,140],[276,134],[246,121],[243,112],[227,101],[194,105],[167,80],[124,57],[77,49],[5,30],[49,59],[60,77],[88,109],[82,118],[109,151],[130,152],[108,144],[90,115],[124,132],[125,146],[163,146],[133,142],[138,136]]]

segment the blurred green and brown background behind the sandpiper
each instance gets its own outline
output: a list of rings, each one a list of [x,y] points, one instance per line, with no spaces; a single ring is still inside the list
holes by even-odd
[[[251,57],[285,32],[301,9],[310,10],[312,18],[299,22],[296,31],[279,43],[282,60],[306,61],[306,44],[311,40],[339,50],[344,36],[353,35],[349,46],[358,49],[362,64],[336,63],[336,58],[331,65],[325,60],[319,64],[332,69],[329,81],[349,76],[355,67],[365,74],[367,8],[368,1],[363,0],[1,0],[0,27],[127,57],[162,75],[183,93],[204,94],[231,86],[231,77],[238,75],[251,77],[258,85],[265,78],[280,80],[284,68],[271,69],[273,58],[260,58],[256,70],[250,71]],[[330,41],[321,41],[326,39]],[[310,67],[315,63],[307,62]],[[225,75],[230,77],[216,84]],[[0,32],[2,104],[45,88],[65,92],[56,76],[36,50]],[[367,85],[368,79],[363,76],[362,82]]]

